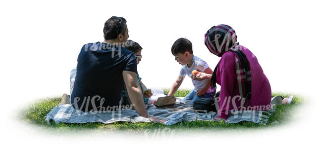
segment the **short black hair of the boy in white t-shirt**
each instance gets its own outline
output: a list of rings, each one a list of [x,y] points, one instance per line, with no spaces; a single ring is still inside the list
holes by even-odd
[[[178,53],[184,54],[186,51],[188,51],[191,54],[193,53],[192,43],[190,40],[186,38],[178,38],[171,47],[172,55]]]

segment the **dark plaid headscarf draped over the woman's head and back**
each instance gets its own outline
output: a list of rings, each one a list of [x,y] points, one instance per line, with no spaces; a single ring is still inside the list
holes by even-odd
[[[236,77],[239,86],[239,94],[242,98],[251,99],[251,68],[246,55],[241,51],[239,43],[236,43],[236,39],[236,33],[230,26],[218,25],[212,27],[205,34],[205,45],[211,53],[218,57],[221,57],[227,51],[232,51],[236,54]],[[217,67],[218,64],[211,78],[213,88],[216,85]]]

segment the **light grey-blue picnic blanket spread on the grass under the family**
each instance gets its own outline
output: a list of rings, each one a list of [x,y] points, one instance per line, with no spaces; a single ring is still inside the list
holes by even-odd
[[[195,111],[189,111],[192,107],[189,105],[191,100],[186,102],[182,101],[182,97],[176,98],[176,103],[170,106],[156,107],[149,105],[147,108],[150,116],[156,116],[166,120],[165,125],[172,125],[182,121],[194,121],[194,120],[213,120],[218,116],[215,112],[199,113]],[[170,109],[169,109],[170,108]],[[184,109],[184,110],[173,110]],[[274,109],[268,111],[230,111],[227,122],[238,123],[241,121],[251,121],[259,124],[267,124],[269,116],[274,113]],[[45,116],[45,120],[50,124],[51,120],[55,123],[89,123],[89,122],[102,122],[113,123],[117,121],[128,122],[151,122],[150,119],[139,116],[135,110],[118,110],[110,112],[88,112],[75,110],[69,104],[59,104],[50,113]]]

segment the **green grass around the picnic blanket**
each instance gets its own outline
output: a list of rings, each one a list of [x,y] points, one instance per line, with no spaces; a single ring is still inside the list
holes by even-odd
[[[164,91],[165,93],[168,90]],[[179,90],[174,96],[184,97],[189,93],[189,90]],[[287,94],[273,93],[273,96],[281,95],[286,97]],[[121,131],[143,131],[153,130],[159,128],[170,128],[174,130],[227,130],[227,129],[259,129],[265,127],[271,127],[276,125],[282,125],[296,117],[293,112],[296,107],[304,103],[304,99],[301,96],[294,96],[290,105],[277,106],[276,112],[269,117],[267,125],[256,124],[253,122],[240,122],[240,123],[225,123],[223,121],[184,121],[170,126],[166,126],[161,123],[131,123],[131,122],[114,122],[111,124],[104,124],[101,122],[94,123],[54,123],[51,121],[48,124],[45,121],[45,116],[55,106],[60,103],[61,98],[44,99],[31,104],[24,111],[22,111],[22,120],[33,125],[41,126],[44,128],[51,128],[54,130],[70,131],[70,130],[121,130]]]

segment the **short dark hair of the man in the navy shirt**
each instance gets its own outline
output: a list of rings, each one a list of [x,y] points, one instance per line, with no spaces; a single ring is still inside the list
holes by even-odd
[[[119,34],[125,34],[126,20],[123,17],[112,16],[104,24],[104,38],[115,39]]]

